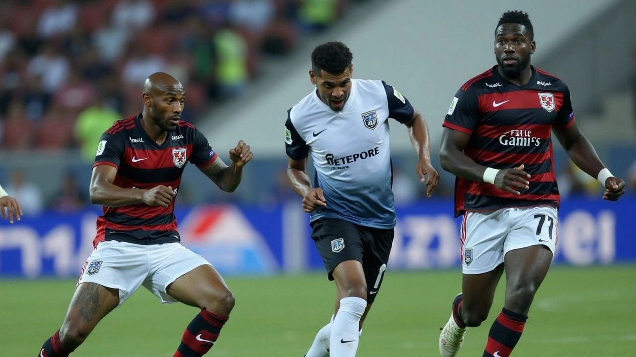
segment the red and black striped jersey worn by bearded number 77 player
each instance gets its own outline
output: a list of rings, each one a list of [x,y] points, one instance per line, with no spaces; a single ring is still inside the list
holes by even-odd
[[[574,123],[570,91],[558,77],[532,69],[530,81],[518,86],[504,79],[495,65],[467,81],[455,94],[443,126],[471,135],[464,154],[480,165],[514,168],[531,175],[521,196],[492,184],[455,179],[455,215],[511,206],[558,208],[552,158],[552,128]]]

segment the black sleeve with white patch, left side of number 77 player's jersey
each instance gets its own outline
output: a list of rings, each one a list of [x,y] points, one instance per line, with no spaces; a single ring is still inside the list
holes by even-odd
[[[480,121],[479,103],[476,93],[460,89],[455,93],[442,124],[446,128],[471,135]]]

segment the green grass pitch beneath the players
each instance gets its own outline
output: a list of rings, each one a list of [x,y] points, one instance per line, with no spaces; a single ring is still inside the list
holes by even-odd
[[[387,271],[364,325],[357,356],[439,356],[439,328],[460,290],[460,271]],[[228,278],[237,304],[209,356],[290,356],[307,352],[329,321],[335,288],[324,274]],[[481,356],[502,307],[504,281],[488,320],[469,330],[458,357]],[[64,318],[71,280],[0,280],[0,355],[36,356]],[[539,289],[515,357],[633,356],[636,266],[555,266]],[[141,288],[97,326],[74,357],[172,356],[197,313],[162,306]]]

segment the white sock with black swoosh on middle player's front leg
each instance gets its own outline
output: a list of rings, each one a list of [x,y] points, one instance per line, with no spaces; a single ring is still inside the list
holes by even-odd
[[[340,309],[331,324],[329,354],[331,357],[356,356],[360,318],[366,309],[366,300],[345,297],[340,300]]]

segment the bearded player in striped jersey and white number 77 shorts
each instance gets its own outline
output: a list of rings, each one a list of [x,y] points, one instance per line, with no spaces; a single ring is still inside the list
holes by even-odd
[[[455,356],[466,327],[487,318],[504,271],[504,308],[483,356],[508,357],[521,337],[556,245],[553,131],[570,159],[604,185],[604,199],[625,192],[577,128],[565,83],[530,65],[533,37],[527,13],[504,13],[495,29],[497,65],[457,91],[443,124],[441,165],[457,177],[455,215],[464,215],[462,293],[439,336],[443,357]]]

